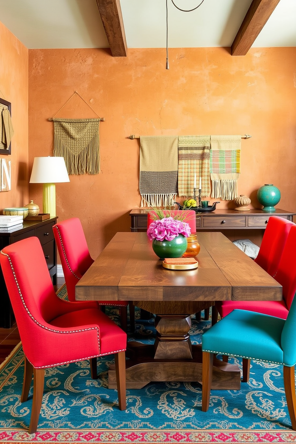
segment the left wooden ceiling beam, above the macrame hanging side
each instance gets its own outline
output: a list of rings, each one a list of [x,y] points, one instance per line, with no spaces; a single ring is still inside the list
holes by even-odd
[[[119,0],[96,0],[113,57],[126,57],[126,35]]]

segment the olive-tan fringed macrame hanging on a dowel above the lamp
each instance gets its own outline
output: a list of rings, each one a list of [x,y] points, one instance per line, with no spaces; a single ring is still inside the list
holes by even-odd
[[[73,95],[75,94],[79,95],[77,91]],[[79,97],[87,103],[81,95]],[[52,117],[49,120],[53,121],[55,131],[53,155],[65,159],[68,174],[99,174],[99,123],[105,119],[103,117],[98,117],[98,119]]]

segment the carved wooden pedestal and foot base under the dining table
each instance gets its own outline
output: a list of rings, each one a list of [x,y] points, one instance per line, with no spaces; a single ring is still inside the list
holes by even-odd
[[[128,342],[126,388],[142,389],[153,381],[202,383],[201,345],[191,345],[190,326],[187,314],[159,314],[155,321],[157,335],[154,345]],[[116,389],[114,365],[109,367],[108,387]],[[240,387],[238,366],[214,357],[211,389],[239,390]]]

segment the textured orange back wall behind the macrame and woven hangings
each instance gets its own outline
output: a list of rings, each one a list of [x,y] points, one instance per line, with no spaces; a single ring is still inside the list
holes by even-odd
[[[278,208],[296,212],[296,48],[29,50],[29,172],[35,156],[52,155],[49,117],[105,117],[100,123],[101,174],[56,184],[57,214],[81,219],[93,257],[116,231],[130,229],[140,205],[139,141],[134,135],[250,134],[241,142],[239,194],[257,202],[273,183]],[[74,91],[77,95],[69,102]],[[88,106],[89,105],[89,106]],[[62,110],[60,110],[60,108]],[[91,110],[91,108],[92,110]],[[30,185],[42,205],[42,186]],[[233,207],[221,202],[219,208]]]

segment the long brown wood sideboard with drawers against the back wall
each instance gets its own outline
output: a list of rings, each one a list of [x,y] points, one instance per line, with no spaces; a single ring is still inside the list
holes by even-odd
[[[268,213],[263,210],[250,209],[249,211],[215,210],[211,213],[196,214],[196,230],[221,231],[230,240],[249,238],[260,246],[264,229],[270,216],[280,216],[293,220],[296,213],[280,210]],[[130,231],[147,230],[147,210],[134,208],[130,211]]]

